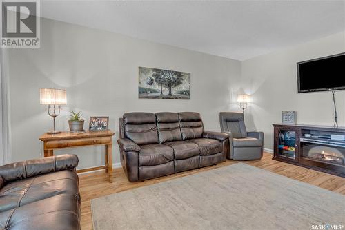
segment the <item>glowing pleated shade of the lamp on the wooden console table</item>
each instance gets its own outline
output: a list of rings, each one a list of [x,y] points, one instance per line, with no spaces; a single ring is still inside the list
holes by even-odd
[[[57,88],[40,88],[39,95],[41,104],[67,104],[66,90]]]

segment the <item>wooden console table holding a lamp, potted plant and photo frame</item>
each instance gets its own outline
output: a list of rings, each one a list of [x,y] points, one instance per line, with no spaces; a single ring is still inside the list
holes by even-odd
[[[77,146],[91,146],[102,144],[105,146],[104,166],[97,166],[88,169],[77,170],[77,173],[105,169],[109,182],[112,182],[112,131],[91,131],[86,133],[62,132],[58,134],[43,134],[39,140],[43,142],[44,157],[54,155],[54,149],[70,148]]]

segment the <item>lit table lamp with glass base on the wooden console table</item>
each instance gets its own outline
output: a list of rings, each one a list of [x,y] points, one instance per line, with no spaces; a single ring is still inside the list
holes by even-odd
[[[57,88],[40,88],[39,95],[41,104],[48,105],[48,115],[50,115],[54,121],[54,130],[49,131],[48,134],[61,133],[61,131],[55,130],[55,117],[60,115],[61,105],[67,104],[66,90]]]

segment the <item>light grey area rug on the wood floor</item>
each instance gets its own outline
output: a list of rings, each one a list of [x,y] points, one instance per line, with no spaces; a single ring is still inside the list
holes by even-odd
[[[242,163],[93,199],[91,209],[95,230],[345,224],[345,195]]]

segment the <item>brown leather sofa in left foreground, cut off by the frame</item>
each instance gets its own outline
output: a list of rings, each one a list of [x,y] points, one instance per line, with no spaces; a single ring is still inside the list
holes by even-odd
[[[80,229],[76,155],[0,167],[0,229]]]

